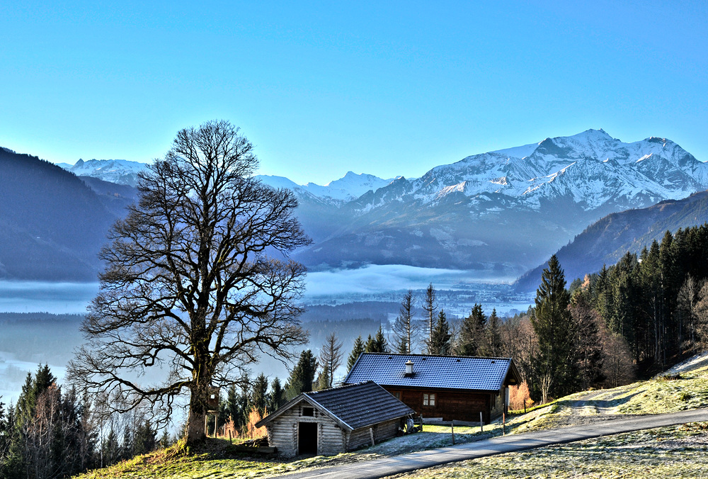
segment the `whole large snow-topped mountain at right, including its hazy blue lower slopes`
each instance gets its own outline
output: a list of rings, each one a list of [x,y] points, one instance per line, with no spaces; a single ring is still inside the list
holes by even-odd
[[[401,263],[508,276],[608,213],[706,188],[708,164],[671,140],[624,143],[587,130],[475,154],[329,208],[295,189],[299,218],[316,232],[298,256],[310,266]]]

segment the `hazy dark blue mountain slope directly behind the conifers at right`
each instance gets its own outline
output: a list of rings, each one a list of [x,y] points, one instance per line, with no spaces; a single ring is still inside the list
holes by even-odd
[[[649,208],[612,213],[588,226],[580,235],[556,252],[565,270],[566,281],[595,273],[603,264],[615,264],[626,252],[639,254],[666,230],[708,222],[708,191],[683,200],[662,201]],[[519,291],[534,291],[546,264],[527,271],[516,282]]]

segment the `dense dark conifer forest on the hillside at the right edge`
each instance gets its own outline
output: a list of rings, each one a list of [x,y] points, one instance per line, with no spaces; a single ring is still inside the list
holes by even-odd
[[[629,346],[640,375],[708,346],[708,225],[666,232],[573,288]]]

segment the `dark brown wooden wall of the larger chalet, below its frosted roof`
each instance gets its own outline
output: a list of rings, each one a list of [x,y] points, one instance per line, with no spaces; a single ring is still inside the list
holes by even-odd
[[[395,386],[383,386],[392,393],[400,393],[400,399],[416,414],[423,417],[442,417],[443,421],[479,421],[482,412],[484,422],[500,416],[503,411],[503,389],[498,393],[467,393],[450,390],[401,389]],[[423,405],[423,393],[435,394],[435,406]]]

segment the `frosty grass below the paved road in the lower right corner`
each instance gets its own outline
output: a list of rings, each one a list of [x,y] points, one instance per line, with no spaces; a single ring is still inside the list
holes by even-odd
[[[707,423],[695,423],[617,434],[396,478],[708,478],[707,429]]]

